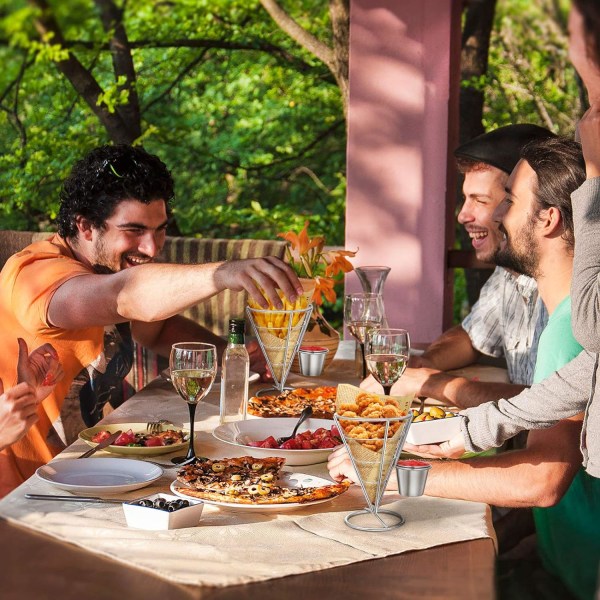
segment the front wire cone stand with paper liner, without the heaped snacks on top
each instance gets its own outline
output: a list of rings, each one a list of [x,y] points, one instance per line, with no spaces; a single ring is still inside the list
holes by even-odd
[[[340,402],[340,388],[344,394],[353,386],[342,384],[338,387],[336,401],[338,407],[343,403]],[[354,388],[356,389],[358,388]],[[385,396],[379,397],[385,398]],[[338,414],[338,411],[333,416],[367,501],[366,508],[354,511],[344,518],[346,525],[353,529],[388,531],[404,523],[404,518],[399,513],[380,508],[383,493],[398,462],[412,421],[412,414],[408,410],[411,398],[399,397],[396,400],[403,407],[406,406],[405,416],[353,417]],[[364,515],[374,517],[375,525],[357,524],[357,518]]]

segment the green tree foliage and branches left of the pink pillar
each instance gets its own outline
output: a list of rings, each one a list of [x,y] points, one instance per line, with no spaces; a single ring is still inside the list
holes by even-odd
[[[326,4],[280,4],[331,43]],[[339,87],[257,0],[0,0],[0,18],[3,228],[51,229],[73,162],[129,141],[175,176],[174,232],[272,238],[310,216],[343,244]]]

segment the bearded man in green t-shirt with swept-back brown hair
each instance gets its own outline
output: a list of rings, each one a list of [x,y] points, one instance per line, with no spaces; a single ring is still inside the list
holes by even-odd
[[[494,259],[496,264],[534,277],[550,315],[539,341],[536,381],[582,350],[573,337],[570,322],[574,246],[570,196],[584,180],[579,144],[560,138],[532,142],[521,152],[521,160],[508,180],[506,197],[494,215],[504,234]],[[521,450],[434,462],[425,493],[496,506],[536,507],[539,552],[544,566],[560,577],[573,594],[589,598],[589,590],[595,585],[594,555],[600,551],[600,532],[594,539],[594,535],[588,536],[586,530],[572,522],[567,524],[567,511],[561,501],[565,496],[569,512],[583,513],[588,519],[598,521],[586,512],[588,499],[582,497],[579,488],[574,491],[577,481],[571,486],[576,474],[580,477],[581,420],[582,415],[578,415],[551,429],[532,431],[527,446]],[[331,455],[329,469],[336,479],[349,476],[356,480],[343,449]],[[395,481],[390,482],[390,489],[395,485]],[[588,530],[592,528],[592,524],[587,525]],[[575,538],[585,540],[582,542],[585,554],[575,547]],[[564,563],[557,560],[559,557]],[[563,564],[586,580],[584,595],[579,593],[583,589],[581,581],[575,587]]]

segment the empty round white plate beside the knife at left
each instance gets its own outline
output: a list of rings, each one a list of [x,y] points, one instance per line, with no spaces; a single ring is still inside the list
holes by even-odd
[[[129,458],[65,458],[40,467],[35,474],[62,490],[109,494],[146,487],[156,481],[163,470]]]

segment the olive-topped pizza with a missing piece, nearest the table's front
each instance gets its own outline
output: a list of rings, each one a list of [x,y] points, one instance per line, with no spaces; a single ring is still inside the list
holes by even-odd
[[[192,498],[235,504],[288,504],[325,500],[345,492],[349,481],[321,487],[285,487],[278,478],[285,459],[278,457],[197,460],[177,473],[186,487],[177,492]]]

